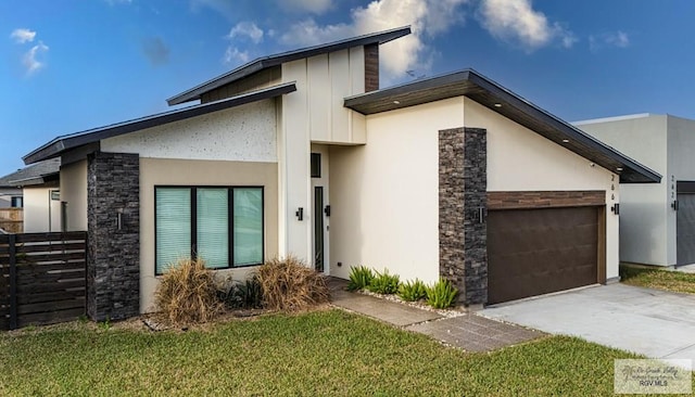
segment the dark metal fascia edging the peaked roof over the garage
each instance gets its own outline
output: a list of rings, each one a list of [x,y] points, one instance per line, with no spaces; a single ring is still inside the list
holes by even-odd
[[[510,90],[504,88],[503,86],[484,77],[483,75],[481,75],[480,73],[471,68],[447,73],[443,75],[438,75],[427,79],[409,81],[399,86],[377,90],[377,91],[370,91],[366,93],[348,97],[343,100],[343,105],[345,107],[353,108],[355,106],[359,106],[372,101],[383,100],[391,95],[405,94],[415,90],[438,88],[438,87],[446,86],[450,84],[460,82],[464,80],[468,80],[475,84],[476,86],[482,88],[483,90],[486,90],[493,95],[500,98],[502,102],[507,102],[518,107],[522,112],[535,117],[542,123],[567,135],[568,138],[574,139],[576,141],[581,142],[584,145],[596,149],[602,154],[615,159],[618,163],[623,164],[626,167],[633,169],[635,172],[642,175],[645,178],[645,181],[644,181],[645,183],[659,182],[661,180],[660,174],[628,157],[627,155],[620,153],[616,149],[608,146],[607,144],[589,136],[586,132],[582,131],[581,129],[570,125],[567,121],[561,120],[559,117],[556,117],[553,114],[544,111],[543,108],[534,105],[533,103],[526,100],[525,98],[517,95]],[[616,172],[618,175],[621,174],[621,171],[618,171],[616,169],[611,169],[610,171]],[[626,182],[635,182],[635,181],[626,180]]]

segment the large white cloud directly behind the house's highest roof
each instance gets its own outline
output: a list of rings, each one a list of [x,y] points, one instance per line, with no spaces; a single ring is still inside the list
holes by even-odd
[[[462,5],[468,0],[375,0],[364,8],[353,9],[350,23],[318,25],[307,18],[296,23],[280,36],[283,44],[306,47],[351,36],[410,25],[413,34],[383,44],[380,49],[384,79],[397,80],[406,72],[427,73],[432,50],[428,38],[464,23]]]

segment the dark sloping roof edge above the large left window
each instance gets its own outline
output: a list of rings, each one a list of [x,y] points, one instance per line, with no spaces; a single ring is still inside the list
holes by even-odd
[[[22,157],[25,164],[33,164],[42,159],[56,157],[62,152],[81,146],[85,144],[101,141],[102,139],[117,137],[137,130],[152,128],[174,121],[179,121],[190,117],[202,116],[204,114],[240,106],[243,104],[276,98],[282,94],[296,91],[294,81],[279,86],[269,87],[263,90],[248,92],[241,95],[226,98],[219,101],[197,104],[175,111],[157,113],[154,115],[136,118],[128,121],[116,123],[104,127],[93,128],[86,131],[75,132],[58,137],[47,144],[34,150]]]

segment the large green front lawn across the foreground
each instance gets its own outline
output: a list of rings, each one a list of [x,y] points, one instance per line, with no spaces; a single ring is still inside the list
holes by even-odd
[[[598,396],[633,357],[560,336],[468,354],[341,310],[188,332],[74,322],[0,333],[0,395]]]

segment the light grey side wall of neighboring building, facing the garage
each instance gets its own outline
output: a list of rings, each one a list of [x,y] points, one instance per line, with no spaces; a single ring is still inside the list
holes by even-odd
[[[670,207],[667,117],[637,115],[581,121],[577,126],[664,176],[660,183],[621,184],[620,260],[673,265],[675,215]]]

